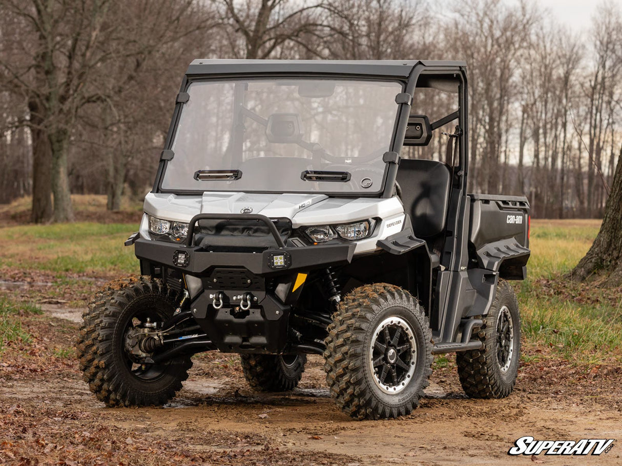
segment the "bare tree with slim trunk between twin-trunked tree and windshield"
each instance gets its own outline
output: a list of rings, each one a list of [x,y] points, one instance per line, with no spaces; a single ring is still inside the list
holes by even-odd
[[[95,140],[103,154],[108,209],[121,208],[128,168],[143,153],[159,152],[175,92],[194,43],[215,27],[213,12],[192,0],[149,0],[128,4],[121,17],[124,41],[106,44],[114,60],[96,77],[100,103],[91,109]],[[180,53],[179,50],[183,50]]]

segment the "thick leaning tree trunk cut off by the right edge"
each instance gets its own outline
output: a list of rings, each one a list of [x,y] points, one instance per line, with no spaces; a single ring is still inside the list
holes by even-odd
[[[618,156],[611,194],[605,205],[603,223],[592,247],[570,272],[570,278],[583,281],[603,278],[605,286],[622,285],[622,147]]]

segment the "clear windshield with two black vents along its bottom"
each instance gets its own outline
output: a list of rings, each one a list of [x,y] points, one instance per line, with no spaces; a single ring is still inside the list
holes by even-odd
[[[373,193],[396,121],[393,81],[200,81],[161,188]]]

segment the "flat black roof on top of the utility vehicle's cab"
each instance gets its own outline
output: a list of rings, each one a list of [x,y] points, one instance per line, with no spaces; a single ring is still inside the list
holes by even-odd
[[[465,62],[439,60],[193,60],[188,66],[188,76],[304,73],[386,76],[407,78],[412,68],[421,63],[430,69],[457,70]]]

